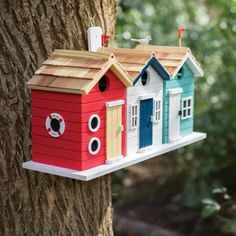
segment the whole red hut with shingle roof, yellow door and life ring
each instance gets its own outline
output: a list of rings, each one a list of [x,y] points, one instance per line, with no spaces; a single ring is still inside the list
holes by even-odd
[[[112,54],[56,50],[28,82],[32,160],[86,170],[126,155],[126,87]]]

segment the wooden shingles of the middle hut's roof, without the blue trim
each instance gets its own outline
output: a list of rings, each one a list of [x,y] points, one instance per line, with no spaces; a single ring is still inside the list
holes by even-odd
[[[142,72],[144,66],[155,55],[152,51],[136,50],[129,48],[99,48],[98,52],[113,53],[118,62],[128,72],[134,81]]]

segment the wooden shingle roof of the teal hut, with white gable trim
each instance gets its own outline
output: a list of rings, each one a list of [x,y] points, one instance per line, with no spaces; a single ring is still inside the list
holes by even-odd
[[[187,61],[196,76],[202,76],[203,71],[200,64],[192,55],[188,47],[137,45],[136,50],[155,52],[159,62],[165,67],[169,74],[174,77],[182,65]]]

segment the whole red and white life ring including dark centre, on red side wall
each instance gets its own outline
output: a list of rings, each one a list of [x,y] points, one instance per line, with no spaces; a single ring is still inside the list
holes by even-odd
[[[45,121],[46,130],[54,138],[60,137],[65,132],[65,121],[58,113],[51,113]]]

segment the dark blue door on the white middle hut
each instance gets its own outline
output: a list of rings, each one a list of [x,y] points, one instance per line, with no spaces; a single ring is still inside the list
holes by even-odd
[[[140,100],[139,148],[152,145],[153,99]]]

